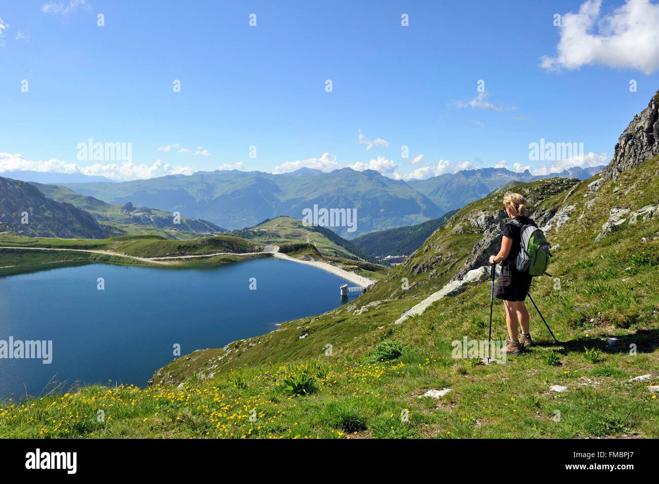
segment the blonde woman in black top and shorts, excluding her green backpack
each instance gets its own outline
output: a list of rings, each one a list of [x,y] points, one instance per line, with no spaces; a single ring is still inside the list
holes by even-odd
[[[527,217],[527,200],[519,193],[506,193],[503,196],[503,207],[511,221],[517,220],[521,224],[506,222],[503,226],[501,249],[497,255],[490,256],[490,264],[501,262],[501,276],[494,295],[498,299],[503,299],[505,307],[508,340],[503,351],[507,355],[519,355],[523,345],[530,346],[533,343],[529,333],[529,311],[524,304],[531,285],[531,276],[515,268],[515,258],[519,254],[521,245],[522,226],[536,224]],[[518,323],[521,326],[519,333]]]

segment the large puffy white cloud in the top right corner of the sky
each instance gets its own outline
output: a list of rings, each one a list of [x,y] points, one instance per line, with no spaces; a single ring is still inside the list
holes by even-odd
[[[637,69],[650,75],[659,69],[659,4],[627,0],[611,15],[601,14],[602,0],[588,0],[578,13],[561,18],[556,57],[543,56],[546,71],[601,64]]]

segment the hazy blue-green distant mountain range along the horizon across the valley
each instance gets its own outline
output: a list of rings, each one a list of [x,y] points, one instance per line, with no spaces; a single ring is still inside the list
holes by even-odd
[[[326,173],[302,168],[274,175],[262,171],[198,171],[122,183],[63,183],[76,193],[109,204],[132,202],[167,212],[208,220],[227,229],[254,226],[276,216],[302,218],[302,210],[356,208],[357,229],[331,227],[351,239],[360,234],[410,226],[439,218],[450,210],[484,197],[509,181],[546,177],[587,179],[601,167],[575,167],[563,173],[532,175],[505,168],[482,168],[447,173],[426,180],[403,181],[378,171],[351,168]]]

